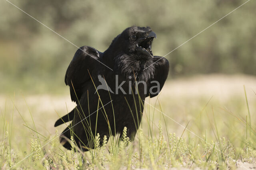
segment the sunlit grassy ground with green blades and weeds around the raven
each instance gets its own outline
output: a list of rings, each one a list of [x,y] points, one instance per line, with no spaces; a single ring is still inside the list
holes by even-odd
[[[222,89],[224,93],[219,93],[218,84],[211,82],[215,91],[209,91],[208,87],[201,88],[207,83],[197,81],[200,88],[197,96],[189,93],[188,86],[194,86],[194,79],[181,86],[182,81],[167,82],[159,98],[146,99],[134,142],[126,136],[126,128],[120,134],[120,142],[116,137],[106,143],[103,137],[103,147],[99,147],[100,134],[94,134],[96,149],[84,153],[74,152],[78,148],[73,139],[71,151],[60,145],[58,131],[66,125],[53,127],[58,115],[73,109],[69,96],[2,96],[0,166],[3,169],[254,167],[256,94],[249,81],[244,81],[244,89],[240,86],[231,92],[235,83],[228,85]],[[226,86],[226,82],[222,83]]]

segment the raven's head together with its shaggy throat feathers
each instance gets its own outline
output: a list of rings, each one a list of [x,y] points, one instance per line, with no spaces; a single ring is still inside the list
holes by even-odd
[[[138,81],[150,80],[154,73],[154,56],[151,49],[154,38],[156,33],[150,27],[128,27],[115,37],[110,47],[104,51],[102,61],[112,66],[117,74],[122,74],[126,80],[129,76],[134,80],[136,77]],[[148,69],[144,71],[144,68]]]

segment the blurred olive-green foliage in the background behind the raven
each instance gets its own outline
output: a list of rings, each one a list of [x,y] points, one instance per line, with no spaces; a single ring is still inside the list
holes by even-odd
[[[11,0],[78,47],[104,51],[131,25],[157,34],[154,55],[164,56],[245,0]],[[191,74],[256,75],[256,2],[251,0],[170,53],[170,78]],[[0,86],[3,92],[52,92],[77,48],[5,0],[0,1]]]

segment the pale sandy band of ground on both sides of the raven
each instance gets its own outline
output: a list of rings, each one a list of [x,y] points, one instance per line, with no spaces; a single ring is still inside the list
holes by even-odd
[[[245,101],[243,85],[246,86],[248,102],[254,104],[256,102],[256,77],[248,75],[210,74],[168,80],[161,91],[160,100],[163,99],[162,101],[165,103],[184,99],[193,102],[193,98],[204,97],[210,99],[213,97],[214,100],[222,102],[237,96]],[[67,93],[65,92],[65,94]],[[67,110],[70,111],[75,106],[75,103],[71,102],[69,95],[52,96],[40,94],[26,96],[24,93],[23,95],[24,97],[21,93],[16,93],[15,100],[13,100],[13,96],[0,94],[0,112],[4,113],[5,104],[6,109],[9,109],[9,112],[12,111],[12,102],[14,102],[20,113],[25,116],[30,116],[29,107],[30,110],[36,110],[37,113],[34,113],[34,115],[44,114],[54,120],[59,118],[58,114],[62,116],[67,113]],[[147,100],[149,99],[147,98]],[[154,101],[156,98],[150,100]],[[26,106],[26,103],[28,106]],[[49,123],[53,122],[49,121]]]

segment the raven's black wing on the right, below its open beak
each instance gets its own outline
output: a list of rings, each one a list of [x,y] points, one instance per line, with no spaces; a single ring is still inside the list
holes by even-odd
[[[152,81],[156,81],[156,82],[154,82],[154,83],[152,82],[150,84],[149,95],[148,95],[148,96],[150,96],[150,98],[153,98],[159,94],[159,92],[162,90],[162,88],[164,86],[164,82],[169,73],[169,62],[166,58],[160,57],[160,56],[154,56],[153,61],[156,63],[154,63],[155,72],[154,72],[154,77],[151,80],[151,82]],[[157,84],[157,82],[159,84]],[[159,85],[158,88],[153,87],[153,86],[158,86],[158,85]]]

